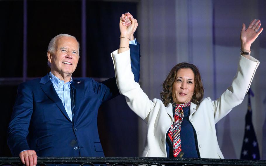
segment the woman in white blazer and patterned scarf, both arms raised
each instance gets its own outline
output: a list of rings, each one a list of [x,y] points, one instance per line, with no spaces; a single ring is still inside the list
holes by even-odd
[[[143,157],[224,158],[219,148],[215,124],[232,108],[239,105],[251,85],[259,61],[250,56],[251,44],[262,32],[260,20],[253,20],[241,30],[238,71],[232,85],[222,95],[203,99],[204,89],[198,68],[179,63],[163,82],[160,99],[149,100],[139,84],[134,82],[126,41],[111,54],[117,85],[126,96],[129,107],[148,125]],[[134,26],[133,22],[132,25]],[[120,31],[132,27],[122,27]],[[121,37],[127,38],[125,33]],[[123,46],[123,47],[121,47]],[[122,50],[121,49],[121,50]]]

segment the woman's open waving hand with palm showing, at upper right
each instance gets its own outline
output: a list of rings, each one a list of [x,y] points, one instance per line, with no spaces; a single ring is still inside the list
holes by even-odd
[[[244,52],[249,52],[251,44],[257,39],[259,34],[262,32],[263,28],[260,28],[260,20],[252,20],[246,29],[246,25],[242,25],[242,30],[240,34],[241,49]]]

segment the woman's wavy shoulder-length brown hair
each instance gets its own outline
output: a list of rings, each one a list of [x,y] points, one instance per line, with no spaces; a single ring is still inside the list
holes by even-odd
[[[172,103],[172,86],[176,80],[177,71],[182,68],[191,69],[195,75],[195,89],[191,102],[194,104],[199,104],[203,98],[204,88],[198,68],[191,63],[182,62],[175,65],[167,75],[166,79],[163,81],[163,91],[161,91],[160,97],[165,106],[167,106],[169,103]]]

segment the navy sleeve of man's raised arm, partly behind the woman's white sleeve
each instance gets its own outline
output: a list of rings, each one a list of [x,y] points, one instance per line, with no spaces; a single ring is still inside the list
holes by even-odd
[[[131,71],[134,74],[134,80],[139,82],[139,71],[140,71],[140,44],[137,45],[129,44],[130,48],[130,64],[132,66]],[[115,77],[107,79],[103,82],[93,82],[94,91],[100,98],[101,102],[108,101],[115,96],[118,96],[119,90],[115,81]]]

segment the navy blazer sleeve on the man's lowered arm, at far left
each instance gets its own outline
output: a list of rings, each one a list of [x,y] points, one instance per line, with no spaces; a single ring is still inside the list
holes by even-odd
[[[33,110],[32,96],[32,88],[29,85],[19,85],[7,134],[7,144],[13,156],[18,156],[23,150],[30,150],[27,135]]]

